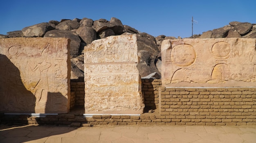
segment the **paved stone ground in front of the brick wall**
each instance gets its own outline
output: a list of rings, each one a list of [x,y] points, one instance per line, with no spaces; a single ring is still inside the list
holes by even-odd
[[[256,126],[7,126],[0,143],[256,143]]]

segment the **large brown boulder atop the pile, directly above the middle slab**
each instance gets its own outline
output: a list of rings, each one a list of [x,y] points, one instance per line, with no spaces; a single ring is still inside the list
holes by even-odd
[[[92,28],[94,28],[97,33],[108,28],[112,29],[115,32],[115,35],[121,35],[124,33],[124,26],[122,22],[115,17],[112,17],[110,22],[104,19],[96,20],[93,22]]]

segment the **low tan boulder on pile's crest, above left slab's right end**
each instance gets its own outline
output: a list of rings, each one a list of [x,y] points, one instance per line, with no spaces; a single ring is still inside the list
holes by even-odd
[[[56,25],[55,28],[59,30],[73,30],[79,28],[80,24],[74,20],[65,20],[60,24]]]

